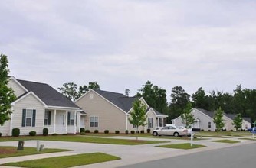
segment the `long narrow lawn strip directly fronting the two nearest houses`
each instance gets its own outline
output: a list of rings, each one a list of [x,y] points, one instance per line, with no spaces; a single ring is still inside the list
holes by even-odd
[[[137,144],[158,144],[163,141],[136,141],[126,139],[113,139],[104,137],[90,137],[84,135],[48,135],[48,136],[23,136],[23,137],[1,137],[0,141],[25,141],[25,140],[44,140],[44,141],[69,141],[69,142],[86,142],[97,144],[124,144],[124,145],[137,145]],[[26,144],[25,144],[26,145]]]

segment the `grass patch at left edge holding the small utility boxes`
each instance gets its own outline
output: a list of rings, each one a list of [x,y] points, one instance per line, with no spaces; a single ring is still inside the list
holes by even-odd
[[[5,157],[19,157],[32,154],[41,154],[41,153],[54,153],[54,152],[63,152],[71,150],[62,150],[62,149],[48,149],[38,152],[35,147],[24,147],[24,150],[17,150],[17,147],[0,147],[0,158]],[[4,152],[5,151],[5,152]]]

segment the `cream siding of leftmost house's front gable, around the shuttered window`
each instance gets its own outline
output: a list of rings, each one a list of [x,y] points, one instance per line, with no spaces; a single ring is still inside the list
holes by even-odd
[[[35,127],[21,127],[22,109],[36,110]],[[28,95],[19,102],[16,102],[12,114],[12,128],[20,128],[21,135],[27,135],[30,131],[42,134],[44,128],[44,106],[38,99],[34,98],[34,95]]]

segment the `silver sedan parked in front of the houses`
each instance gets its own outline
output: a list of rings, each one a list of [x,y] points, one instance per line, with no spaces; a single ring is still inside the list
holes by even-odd
[[[177,128],[175,125],[172,126],[166,126],[159,130],[153,130],[152,131],[153,136],[161,136],[161,135],[173,135],[174,137],[180,137],[180,136],[188,136],[188,130],[187,129],[180,129]]]

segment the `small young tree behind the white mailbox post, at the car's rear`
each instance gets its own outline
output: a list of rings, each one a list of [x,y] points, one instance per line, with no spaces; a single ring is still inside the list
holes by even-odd
[[[182,123],[185,124],[185,128],[189,128],[189,126],[195,122],[195,118],[194,115],[192,115],[191,110],[192,104],[191,102],[188,102],[181,115]]]

